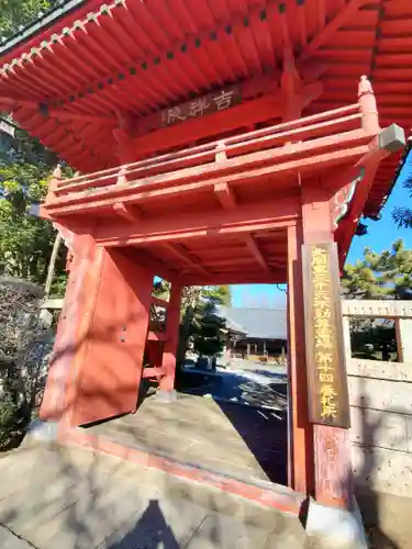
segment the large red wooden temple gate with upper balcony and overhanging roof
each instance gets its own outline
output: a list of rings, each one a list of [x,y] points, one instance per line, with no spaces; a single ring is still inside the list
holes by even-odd
[[[361,214],[378,215],[387,158],[404,143],[389,125],[392,108],[382,109],[380,127],[366,77],[355,101],[369,63],[353,70],[349,55],[339,88],[331,83],[336,67],[319,61],[334,55],[322,49],[329,40],[347,44],[346,23],[374,34],[370,10],[321,2],[314,22],[313,1],[209,2],[196,15],[186,3],[171,12],[163,1],[80,2],[3,54],[0,103],[83,172],[63,179],[56,169],[42,206],[75,237],[41,416],[77,426],[132,412],[142,377],[170,391],[182,287],[287,282],[290,485],[348,507],[348,424],[331,407],[345,413],[345,388],[308,386],[322,365],[305,348],[312,321],[303,311],[313,305],[304,304],[308,284],[324,284],[322,314],[338,334],[330,245],[342,266]],[[396,13],[405,7],[392,4]],[[332,249],[327,269],[319,264],[327,284],[302,269],[302,246]],[[171,283],[169,302],[157,302],[167,310],[162,334],[148,329],[156,274]],[[143,369],[147,338],[164,350],[162,363]],[[331,371],[323,367],[342,380],[335,350]],[[316,397],[321,417],[309,417]]]

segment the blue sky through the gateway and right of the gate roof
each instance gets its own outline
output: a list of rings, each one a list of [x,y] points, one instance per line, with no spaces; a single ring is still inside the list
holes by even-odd
[[[389,249],[392,242],[397,238],[403,238],[405,246],[412,248],[412,229],[398,228],[392,221],[391,212],[394,206],[412,205],[412,199],[409,191],[403,188],[408,173],[412,171],[412,154],[409,156],[398,182],[382,211],[380,221],[366,220],[368,234],[365,236],[355,236],[352,240],[348,261],[355,262],[363,257],[366,246],[374,251]],[[233,306],[282,306],[286,303],[285,291],[279,290],[272,284],[240,284],[232,287]]]

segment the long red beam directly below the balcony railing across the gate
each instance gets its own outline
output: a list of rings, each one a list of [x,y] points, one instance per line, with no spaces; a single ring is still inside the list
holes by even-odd
[[[49,210],[49,213],[53,210],[59,210],[65,215],[77,210],[85,213],[88,210],[112,206],[120,200],[121,193],[123,194],[122,202],[125,204],[144,203],[151,199],[158,200],[162,197],[168,199],[171,193],[201,190],[221,182],[240,186],[252,182],[254,179],[276,177],[288,171],[320,170],[325,165],[344,164],[349,160],[348,157],[361,156],[367,149],[359,145],[366,145],[369,139],[370,136],[363,130],[327,135],[290,146],[250,153],[225,163],[202,166],[201,169],[199,166],[193,166],[147,177],[142,182],[131,181],[127,184],[111,186],[107,189],[99,189],[96,195],[87,191],[75,193],[71,190],[70,194],[58,197],[46,203],[44,208]],[[264,167],[252,169],[255,166]]]

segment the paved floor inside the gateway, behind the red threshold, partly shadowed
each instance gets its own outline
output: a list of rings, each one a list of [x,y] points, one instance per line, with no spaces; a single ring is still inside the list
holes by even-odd
[[[287,419],[279,411],[189,394],[165,404],[154,395],[135,414],[86,432],[244,482],[287,483]]]

